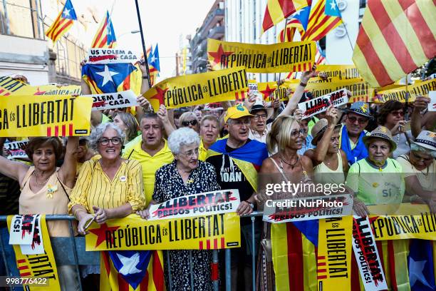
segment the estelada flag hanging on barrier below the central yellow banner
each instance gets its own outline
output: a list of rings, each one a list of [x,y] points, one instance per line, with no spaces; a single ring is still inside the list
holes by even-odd
[[[100,253],[100,290],[165,290],[162,251],[119,250]]]

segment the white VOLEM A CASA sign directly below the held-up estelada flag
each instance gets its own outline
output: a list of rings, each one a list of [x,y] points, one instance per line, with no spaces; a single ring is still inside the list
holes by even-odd
[[[132,90],[120,91],[115,93],[83,95],[83,97],[93,98],[93,108],[91,109],[91,111],[125,108],[137,105],[136,96]]]

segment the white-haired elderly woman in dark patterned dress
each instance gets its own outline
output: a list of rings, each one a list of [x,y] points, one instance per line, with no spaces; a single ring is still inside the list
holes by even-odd
[[[184,195],[220,190],[213,166],[198,160],[199,136],[191,128],[179,128],[168,138],[168,146],[174,161],[156,172],[155,192],[150,205]],[[149,206],[150,208],[150,206]],[[149,218],[149,210],[139,211],[142,218]],[[165,265],[165,274],[172,275],[172,290],[191,290],[190,251],[170,250],[170,265]],[[195,270],[196,290],[212,290],[212,252],[192,250],[192,265]],[[168,280],[165,280],[168,283]],[[170,286],[167,286],[169,290]]]

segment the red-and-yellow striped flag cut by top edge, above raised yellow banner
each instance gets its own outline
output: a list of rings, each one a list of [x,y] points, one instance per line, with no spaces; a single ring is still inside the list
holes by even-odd
[[[311,4],[312,0],[268,0],[261,34],[294,14],[297,10],[311,6]]]

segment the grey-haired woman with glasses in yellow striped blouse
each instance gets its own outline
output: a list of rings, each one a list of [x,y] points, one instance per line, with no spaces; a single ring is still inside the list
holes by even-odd
[[[137,160],[121,158],[123,141],[123,131],[113,123],[100,124],[90,135],[90,146],[101,158],[83,163],[68,204],[82,235],[85,223],[94,216],[98,224],[103,224],[145,207],[141,165]]]

